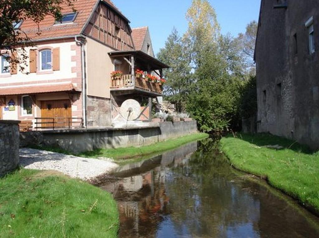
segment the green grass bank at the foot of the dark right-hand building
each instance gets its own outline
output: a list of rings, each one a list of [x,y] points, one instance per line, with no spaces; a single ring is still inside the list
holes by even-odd
[[[319,212],[319,154],[270,134],[224,137],[221,149],[235,168],[265,177],[268,183]],[[265,148],[280,145],[283,149]]]

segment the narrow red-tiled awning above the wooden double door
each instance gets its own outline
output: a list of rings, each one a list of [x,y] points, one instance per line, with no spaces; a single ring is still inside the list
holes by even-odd
[[[1,88],[0,95],[21,95],[32,93],[48,93],[48,92],[68,92],[68,91],[81,91],[74,87],[72,83],[58,84],[58,85],[41,85],[29,87],[16,87],[16,88]]]

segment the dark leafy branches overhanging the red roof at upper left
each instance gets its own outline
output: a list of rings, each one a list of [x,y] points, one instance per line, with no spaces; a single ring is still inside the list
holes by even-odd
[[[46,15],[51,15],[57,20],[61,19],[61,5],[66,4],[75,11],[73,8],[74,1],[75,0],[1,0],[0,49],[11,51],[12,54],[17,51],[18,47],[21,48],[22,51],[18,58],[9,56],[7,60],[11,61],[11,63],[19,63],[21,61],[25,63],[26,54],[24,48],[33,45],[32,39],[28,37],[27,33],[18,28],[20,22],[29,18],[39,26],[39,23]]]

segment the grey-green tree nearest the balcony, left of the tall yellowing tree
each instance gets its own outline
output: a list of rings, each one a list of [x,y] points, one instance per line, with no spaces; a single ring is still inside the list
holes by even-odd
[[[189,51],[175,28],[157,57],[170,66],[163,71],[163,76],[167,79],[164,93],[167,99],[176,105],[177,111],[182,112],[190,90],[191,67]]]

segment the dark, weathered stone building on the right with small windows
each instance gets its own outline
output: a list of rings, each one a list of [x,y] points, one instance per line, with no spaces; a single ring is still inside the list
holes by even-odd
[[[319,1],[262,0],[257,130],[319,148]]]

